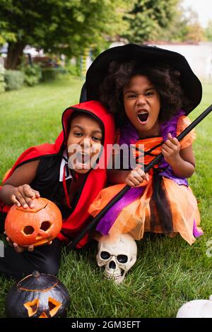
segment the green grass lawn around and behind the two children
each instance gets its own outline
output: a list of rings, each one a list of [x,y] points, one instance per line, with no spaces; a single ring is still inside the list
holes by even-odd
[[[78,102],[82,81],[63,78],[35,88],[0,95],[0,179],[29,146],[53,143],[61,131],[61,114]],[[195,119],[212,103],[212,83],[204,84]],[[184,302],[212,294],[212,257],[206,255],[211,225],[211,115],[196,127],[196,172],[189,180],[199,199],[204,236],[190,247],[180,236],[146,235],[138,244],[138,259],[122,285],[103,278],[95,262],[97,244],[63,251],[59,279],[71,295],[69,317],[175,317]],[[212,250],[211,250],[212,252]],[[0,278],[0,316],[14,280]]]

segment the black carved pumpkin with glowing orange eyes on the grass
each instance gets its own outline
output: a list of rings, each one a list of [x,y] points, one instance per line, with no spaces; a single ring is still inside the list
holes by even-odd
[[[69,302],[66,287],[54,275],[34,271],[8,292],[6,315],[11,318],[63,317]]]

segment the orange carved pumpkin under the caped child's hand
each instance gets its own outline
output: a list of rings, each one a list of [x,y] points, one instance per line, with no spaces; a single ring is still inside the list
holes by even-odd
[[[6,216],[6,235],[19,246],[40,246],[57,237],[61,230],[61,212],[52,201],[35,198],[33,204],[34,208],[13,205]]]

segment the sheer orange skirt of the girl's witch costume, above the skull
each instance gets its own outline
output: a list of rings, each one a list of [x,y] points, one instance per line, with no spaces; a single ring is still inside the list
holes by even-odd
[[[117,184],[102,189],[90,205],[89,213],[93,217],[98,215],[124,186],[125,184]],[[164,232],[159,219],[157,221],[157,209],[150,203],[153,196],[153,175],[150,175],[148,182],[144,181],[140,186],[144,186],[142,196],[122,209],[110,228],[109,234],[128,233],[134,239],[139,240],[143,237],[144,232]],[[167,235],[173,237],[179,232],[189,244],[194,243],[194,220],[198,226],[200,214],[192,189],[189,186],[179,185],[166,177],[163,177],[161,186],[163,186],[168,203],[168,206],[164,208],[168,208],[172,215],[172,232],[167,233]],[[156,216],[154,227],[151,224],[152,214]],[[196,232],[199,232],[199,235],[203,233],[199,227],[196,227]]]

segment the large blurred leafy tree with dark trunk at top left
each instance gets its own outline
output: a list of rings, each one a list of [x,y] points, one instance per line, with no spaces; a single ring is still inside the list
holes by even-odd
[[[133,0],[134,1],[134,0]],[[0,43],[8,42],[7,69],[16,69],[26,45],[81,54],[105,36],[122,33],[132,0],[0,0]]]

